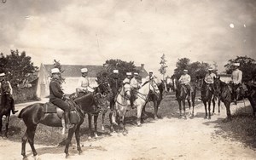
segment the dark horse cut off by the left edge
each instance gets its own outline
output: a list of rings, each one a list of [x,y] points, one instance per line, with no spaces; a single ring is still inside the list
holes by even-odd
[[[5,123],[5,133],[4,136],[7,137],[8,133],[8,126],[9,126],[9,117],[10,111],[14,108],[15,103],[13,102],[12,97],[10,94],[2,94],[0,95],[1,105],[0,105],[0,134],[2,134],[2,127],[3,127],[3,116],[6,117]]]

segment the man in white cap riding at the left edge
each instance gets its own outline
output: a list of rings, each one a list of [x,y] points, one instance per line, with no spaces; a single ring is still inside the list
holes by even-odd
[[[1,96],[1,105],[6,106],[7,95],[10,98],[10,106],[12,113],[15,114],[15,100],[13,99],[13,89],[9,81],[6,80],[5,73],[0,73],[0,96]]]

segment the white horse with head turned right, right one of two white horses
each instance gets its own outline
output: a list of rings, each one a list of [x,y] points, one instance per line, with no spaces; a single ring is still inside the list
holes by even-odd
[[[143,106],[145,106],[148,101],[150,90],[152,90],[154,94],[160,94],[160,90],[154,80],[144,83],[142,88],[137,90],[137,99],[133,103],[134,106],[137,106],[137,126],[141,126]]]

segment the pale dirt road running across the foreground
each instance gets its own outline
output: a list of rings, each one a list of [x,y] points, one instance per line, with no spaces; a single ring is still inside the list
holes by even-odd
[[[233,111],[243,106],[234,106]],[[204,119],[201,105],[195,108],[195,117],[163,118],[142,127],[128,129],[128,134],[112,134],[98,140],[83,141],[82,155],[76,146],[70,147],[69,159],[255,159],[253,151],[240,142],[216,134],[218,123],[225,117],[224,107],[220,115]],[[0,140],[0,159],[21,159],[21,144]],[[64,147],[36,146],[40,159],[64,159]],[[28,159],[33,159],[31,148],[26,145]]]

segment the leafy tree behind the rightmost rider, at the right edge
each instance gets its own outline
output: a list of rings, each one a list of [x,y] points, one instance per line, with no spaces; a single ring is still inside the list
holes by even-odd
[[[226,73],[231,74],[233,71],[233,63],[240,63],[240,70],[242,71],[242,80],[247,82],[256,75],[256,61],[247,56],[236,56],[236,59],[231,59],[224,66]]]

